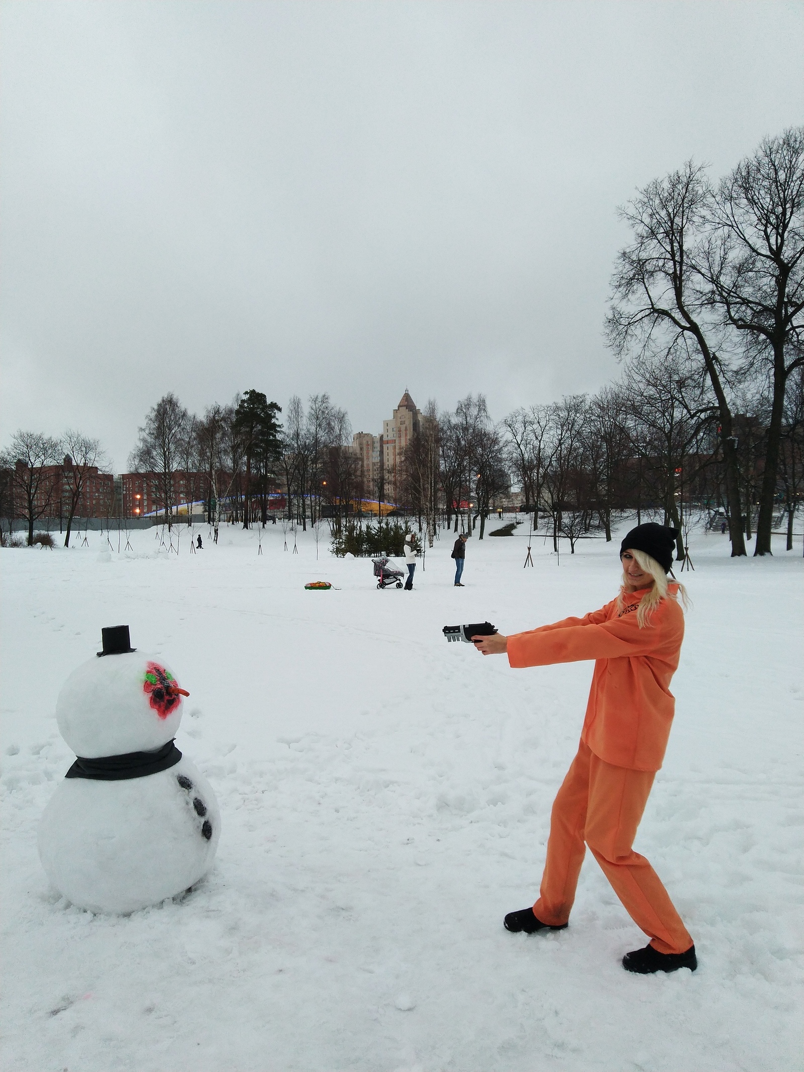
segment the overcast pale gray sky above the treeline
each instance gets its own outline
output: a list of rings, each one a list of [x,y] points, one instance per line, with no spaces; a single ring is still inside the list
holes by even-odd
[[[804,116],[804,5],[117,0],[0,6],[2,443],[166,391],[595,390],[616,206]]]

